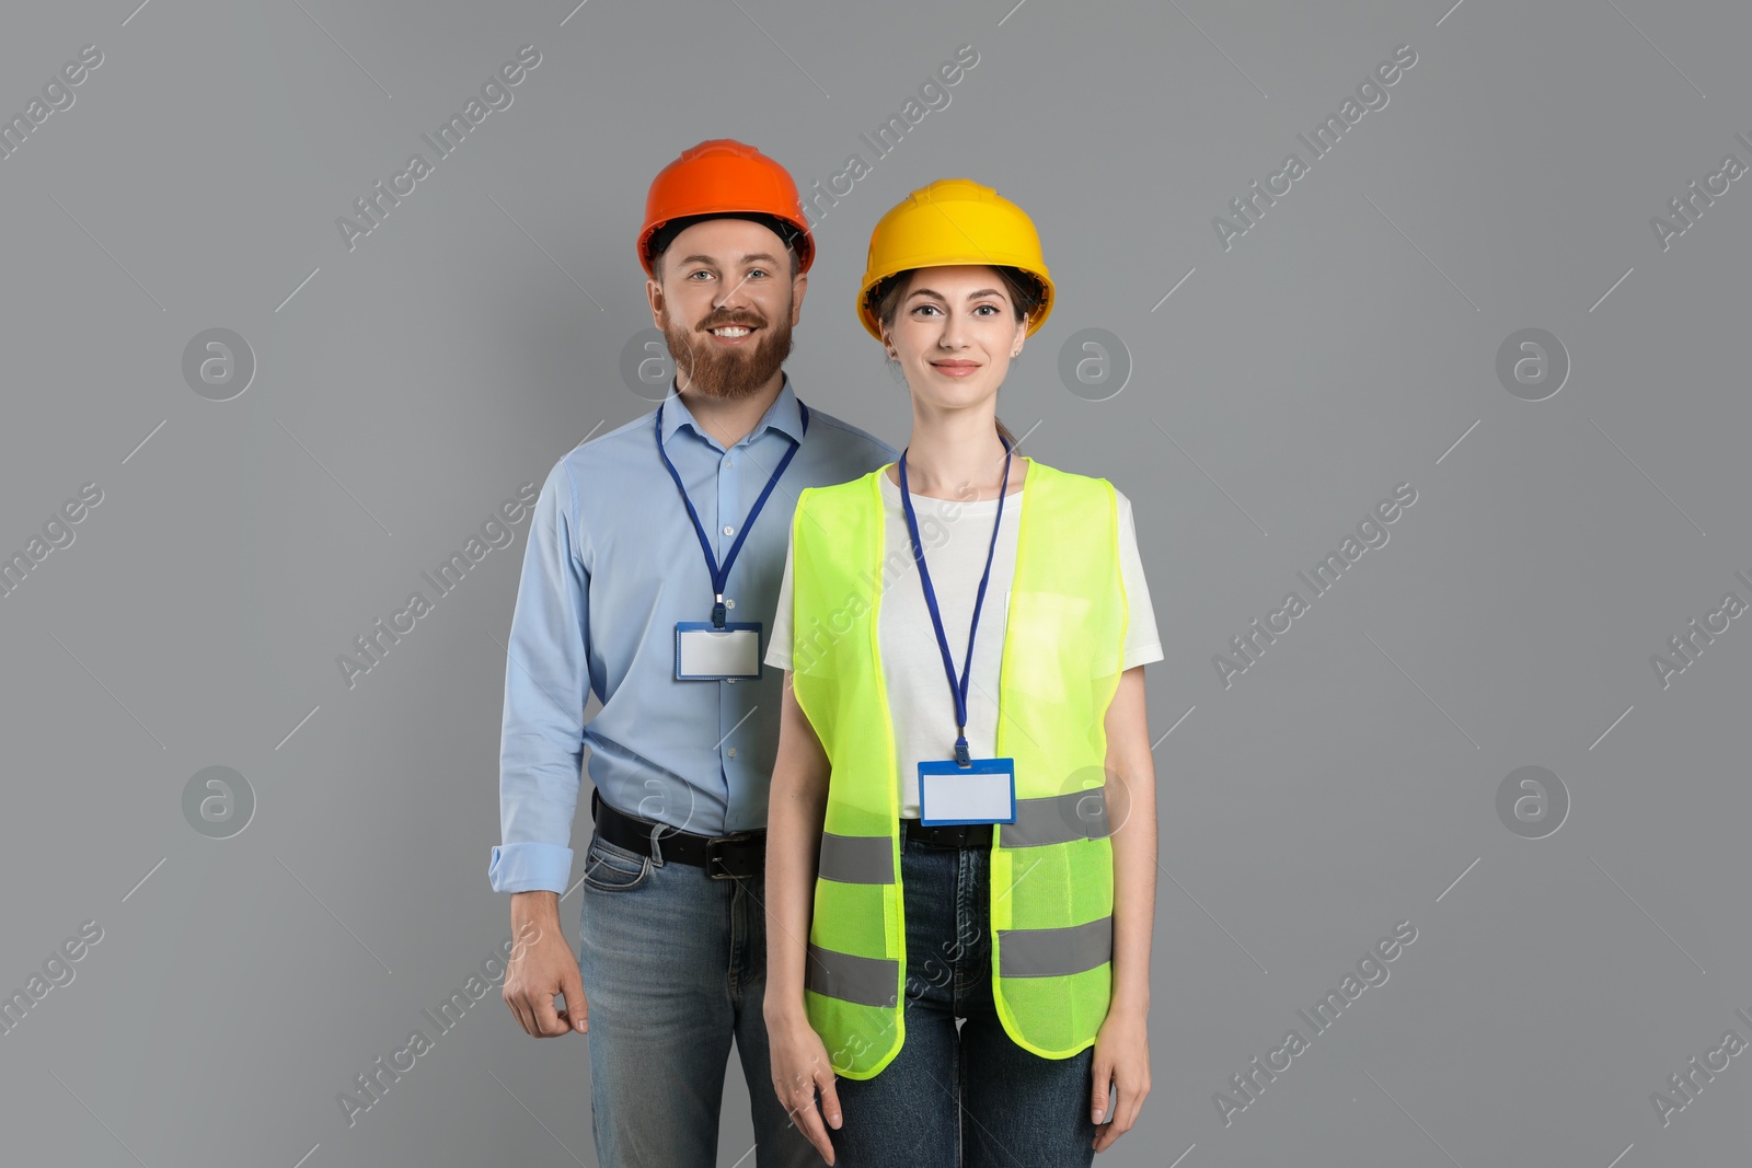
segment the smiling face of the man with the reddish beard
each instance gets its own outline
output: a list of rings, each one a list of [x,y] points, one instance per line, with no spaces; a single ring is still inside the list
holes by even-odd
[[[785,242],[748,219],[706,219],[669,242],[662,282],[645,291],[682,389],[734,401],[778,375],[809,280],[790,268]]]

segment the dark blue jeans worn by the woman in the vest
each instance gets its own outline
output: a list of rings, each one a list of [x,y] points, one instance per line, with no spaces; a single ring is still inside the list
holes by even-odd
[[[844,1121],[827,1129],[836,1168],[1093,1163],[1095,1049],[1041,1058],[993,1009],[990,855],[925,848],[909,823],[901,820],[906,1042],[874,1079],[834,1079]]]

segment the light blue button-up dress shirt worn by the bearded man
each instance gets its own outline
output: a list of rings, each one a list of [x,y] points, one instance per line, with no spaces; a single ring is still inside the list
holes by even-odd
[[[711,620],[711,571],[657,454],[655,410],[582,443],[548,473],[524,548],[505,667],[503,842],[496,891],[566,891],[580,758],[603,799],[699,835],[764,828],[785,672],[678,681],[675,625]],[[732,622],[773,634],[797,492],[850,482],[901,452],[820,410],[809,433],[790,376],[729,450],[671,392],[664,450],[722,564],[792,440],[802,441],[748,532],[724,590]],[[583,725],[590,693],[603,709]]]

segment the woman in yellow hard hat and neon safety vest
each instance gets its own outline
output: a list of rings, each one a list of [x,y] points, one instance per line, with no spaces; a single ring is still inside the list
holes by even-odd
[[[883,215],[858,317],[911,441],[792,518],[764,1003],[774,1091],[830,1164],[1088,1164],[1149,1093],[1162,650],[1130,504],[997,420],[1051,303],[997,191]]]

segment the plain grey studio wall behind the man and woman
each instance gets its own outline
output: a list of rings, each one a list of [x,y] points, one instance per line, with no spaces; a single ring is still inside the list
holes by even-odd
[[[1039,224],[1060,301],[1000,417],[1132,496],[1167,650],[1155,1089],[1104,1163],[1743,1159],[1745,1058],[1666,1128],[1650,1093],[1752,1038],[1752,632],[1666,688],[1650,657],[1752,599],[1752,191],[1666,250],[1649,221],[1752,161],[1745,5],[131,4],[0,37],[7,114],[103,53],[0,161],[0,548],[103,490],[0,599],[0,986],[103,928],[0,1037],[7,1159],[596,1163],[585,1042],[496,988],[356,1126],[335,1101],[510,937],[527,520],[354,688],[335,657],[650,408],[617,362],[664,163],[739,137],[825,182],[960,44],[951,103],[822,217],[788,369],[904,443],[851,313],[876,217],[967,175]],[[524,44],[513,105],[349,252],[335,219]],[[1212,217],[1400,44],[1389,103],[1225,250]],[[210,327],[258,362],[224,403],[180,373]],[[1134,362],[1107,401],[1058,378],[1081,327]],[[1573,362],[1545,401],[1496,376],[1524,327]],[[1402,482],[1391,541],[1225,688],[1212,657]],[[210,765],[256,797],[231,839],[184,820]],[[1494,809],[1522,765],[1573,800],[1545,839]],[[1225,1126],[1212,1094],[1402,919],[1391,979]],[[752,1166],[729,1079],[720,1163]]]

